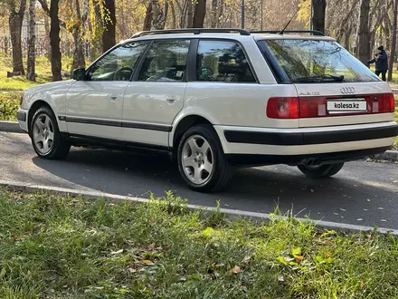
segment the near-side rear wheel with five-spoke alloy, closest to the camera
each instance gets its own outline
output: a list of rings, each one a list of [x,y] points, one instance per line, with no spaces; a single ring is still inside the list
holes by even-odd
[[[178,144],[177,164],[188,186],[199,192],[222,190],[233,174],[211,125],[196,125],[185,131]]]

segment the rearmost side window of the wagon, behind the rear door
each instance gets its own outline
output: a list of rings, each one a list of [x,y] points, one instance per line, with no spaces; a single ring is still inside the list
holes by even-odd
[[[200,41],[196,63],[197,81],[256,82],[239,43]]]

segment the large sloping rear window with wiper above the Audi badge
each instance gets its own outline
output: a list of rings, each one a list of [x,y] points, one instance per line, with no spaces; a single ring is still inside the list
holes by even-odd
[[[376,82],[379,78],[336,42],[267,40],[292,83]]]

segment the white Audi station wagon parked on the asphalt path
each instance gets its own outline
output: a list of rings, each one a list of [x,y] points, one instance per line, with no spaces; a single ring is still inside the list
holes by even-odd
[[[72,77],[24,92],[17,118],[39,157],[154,149],[198,191],[224,188],[240,166],[331,177],[398,135],[388,84],[317,32],[143,32]]]

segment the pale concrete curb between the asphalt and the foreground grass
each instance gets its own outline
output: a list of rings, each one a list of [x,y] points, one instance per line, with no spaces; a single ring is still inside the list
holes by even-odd
[[[81,197],[81,198],[86,198],[86,199],[96,199],[96,198],[103,198],[107,201],[110,202],[123,202],[126,200],[137,202],[137,203],[147,203],[150,200],[147,198],[132,198],[132,197],[126,197],[126,196],[120,196],[120,195],[115,195],[115,194],[109,194],[109,193],[102,193],[102,192],[96,192],[96,191],[84,191],[84,190],[76,190],[76,189],[71,189],[71,188],[58,188],[58,187],[52,187],[52,186],[41,186],[41,185],[30,185],[30,184],[24,184],[21,182],[15,182],[15,181],[5,181],[5,180],[0,180],[0,187],[6,187],[10,190],[14,191],[24,191],[24,192],[29,192],[29,193],[34,193],[38,191],[42,192],[49,192],[51,194],[55,195],[62,195],[62,196],[75,196],[75,197]],[[227,217],[230,219],[236,219],[236,218],[248,218],[251,219],[255,222],[262,222],[262,223],[267,223],[270,221],[270,219],[278,217],[280,219],[287,219],[288,217],[284,216],[271,216],[270,214],[265,214],[265,213],[256,213],[256,212],[249,212],[249,211],[241,211],[241,210],[234,210],[234,209],[229,209],[229,208],[219,208],[217,209],[216,207],[202,207],[202,206],[197,206],[197,205],[188,205],[188,209],[192,211],[220,211],[224,213]],[[313,220],[313,219],[305,219],[305,218],[296,218],[302,222],[309,222],[313,225],[316,225],[317,227],[323,227],[326,229],[334,229],[336,231],[341,231],[341,232],[366,232],[366,231],[374,231],[376,229],[378,232],[381,234],[391,234],[393,236],[398,236],[398,230],[396,229],[388,229],[388,228],[383,228],[383,227],[363,227],[363,226],[356,226],[356,225],[350,225],[350,224],[343,224],[343,223],[336,223],[336,222],[329,222],[329,221],[323,221],[323,220]]]

